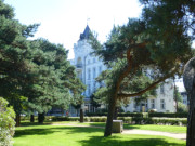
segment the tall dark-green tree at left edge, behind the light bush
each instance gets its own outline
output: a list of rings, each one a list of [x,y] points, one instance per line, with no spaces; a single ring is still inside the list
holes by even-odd
[[[34,80],[31,74],[32,49],[28,37],[38,25],[22,25],[14,19],[13,9],[0,0],[0,95],[8,98],[21,114],[24,88]],[[20,108],[18,108],[20,107]]]

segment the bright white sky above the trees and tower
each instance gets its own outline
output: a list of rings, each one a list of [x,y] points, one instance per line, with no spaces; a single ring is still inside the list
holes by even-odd
[[[142,6],[139,0],[4,0],[12,5],[15,18],[22,24],[38,23],[35,38],[46,38],[61,43],[74,57],[73,47],[83,32],[87,24],[98,32],[101,42],[114,24],[122,25],[129,17],[139,17]]]

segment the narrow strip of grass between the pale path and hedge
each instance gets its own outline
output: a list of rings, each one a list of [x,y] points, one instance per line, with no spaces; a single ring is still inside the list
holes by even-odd
[[[54,122],[54,123],[72,123],[72,124],[82,124],[82,125],[91,125],[91,127],[105,127],[104,122]],[[123,124],[125,129],[139,129],[139,130],[152,130],[152,131],[161,131],[161,132],[170,132],[170,133],[186,133],[186,127],[179,125],[157,125],[157,124]]]

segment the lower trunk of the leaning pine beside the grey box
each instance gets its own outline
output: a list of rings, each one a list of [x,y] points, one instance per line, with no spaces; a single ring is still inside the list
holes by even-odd
[[[106,121],[106,128],[104,132],[104,136],[110,136],[113,132],[113,118],[115,114],[115,106],[116,106],[116,99],[117,96],[109,98],[109,105],[108,105],[108,114],[107,114],[107,121]]]

